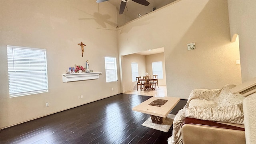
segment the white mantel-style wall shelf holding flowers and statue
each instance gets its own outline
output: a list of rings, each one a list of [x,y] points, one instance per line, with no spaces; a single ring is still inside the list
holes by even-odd
[[[99,79],[102,72],[82,72],[75,74],[62,74],[62,82]]]

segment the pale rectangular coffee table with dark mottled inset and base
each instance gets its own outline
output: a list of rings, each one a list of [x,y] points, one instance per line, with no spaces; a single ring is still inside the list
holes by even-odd
[[[152,122],[156,124],[162,124],[166,116],[171,110],[178,104],[180,98],[175,97],[152,97],[138,106],[132,108],[137,112],[150,114]]]

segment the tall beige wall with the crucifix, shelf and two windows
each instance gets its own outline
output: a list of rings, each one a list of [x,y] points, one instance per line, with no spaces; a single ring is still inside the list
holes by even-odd
[[[112,4],[92,0],[1,0],[0,4],[1,128],[120,93],[120,81],[106,83],[105,76],[104,56],[118,59]],[[80,42],[86,44],[84,57]],[[6,45],[47,50],[49,92],[9,98]],[[86,60],[90,70],[102,72],[99,79],[62,82],[69,67],[85,66]],[[84,98],[78,99],[80,95]]]

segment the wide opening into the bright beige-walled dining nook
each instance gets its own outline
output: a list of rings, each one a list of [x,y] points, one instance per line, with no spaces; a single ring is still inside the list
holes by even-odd
[[[135,54],[128,54],[121,56],[122,62],[122,93],[131,93],[136,90],[136,81],[132,79],[132,66],[131,63],[138,64],[138,76],[145,76],[147,72],[150,76],[153,76],[152,62],[162,62],[163,78],[158,79],[158,85],[161,87],[161,94],[164,94],[166,90],[166,73],[165,73],[165,60],[164,60],[164,48],[156,48],[153,50],[147,50],[144,52],[138,52]],[[156,92],[157,93],[157,92]],[[158,94],[148,94],[158,95]]]

